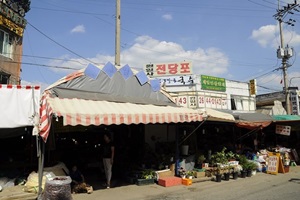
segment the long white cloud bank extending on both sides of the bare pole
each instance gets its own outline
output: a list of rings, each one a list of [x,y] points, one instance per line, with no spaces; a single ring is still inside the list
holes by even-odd
[[[64,61],[65,60],[65,61]],[[49,65],[84,68],[89,61],[105,64],[115,63],[114,55],[97,54],[93,58],[76,58],[62,56],[59,60],[53,60]],[[147,63],[168,63],[190,61],[193,66],[193,74],[205,74],[211,76],[225,77],[228,75],[229,59],[217,48],[185,50],[180,44],[168,41],[159,41],[149,36],[137,37],[134,44],[121,52],[121,66],[128,64],[131,68],[142,70]],[[74,70],[59,70],[62,74],[69,74]],[[226,77],[225,77],[226,78]]]

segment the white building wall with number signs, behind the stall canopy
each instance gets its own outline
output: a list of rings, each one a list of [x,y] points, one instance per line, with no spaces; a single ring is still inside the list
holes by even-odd
[[[255,96],[250,95],[249,83],[225,80],[226,91],[202,90],[201,75],[165,77],[165,89],[178,105],[189,108],[213,108],[255,111]],[[191,82],[190,80],[193,80]],[[235,106],[231,104],[234,101]]]

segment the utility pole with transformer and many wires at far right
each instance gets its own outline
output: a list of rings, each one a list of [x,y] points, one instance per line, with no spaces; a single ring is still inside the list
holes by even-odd
[[[290,67],[290,65],[288,64],[288,60],[290,57],[293,56],[293,48],[290,48],[288,45],[286,47],[284,47],[282,23],[286,23],[287,25],[294,26],[294,23],[296,22],[295,20],[289,19],[288,21],[284,21],[284,18],[288,14],[293,15],[295,11],[299,12],[299,10],[297,10],[297,8],[299,7],[299,4],[297,3],[297,0],[295,0],[294,3],[289,3],[289,4],[287,4],[287,6],[283,6],[283,8],[280,9],[279,2],[280,2],[280,0],[278,0],[277,13],[273,17],[275,17],[275,19],[279,23],[280,46],[277,49],[277,57],[279,59],[281,59],[281,61],[282,61],[286,111],[287,111],[287,114],[290,115],[291,114],[291,102],[290,102],[290,95],[289,95],[287,68]]]

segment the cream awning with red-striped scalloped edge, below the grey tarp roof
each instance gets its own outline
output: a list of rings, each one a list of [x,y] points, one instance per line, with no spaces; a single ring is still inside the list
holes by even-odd
[[[85,99],[44,97],[40,135],[47,140],[52,116],[63,117],[63,125],[112,125],[183,123],[202,121],[197,110],[150,104],[117,103]]]

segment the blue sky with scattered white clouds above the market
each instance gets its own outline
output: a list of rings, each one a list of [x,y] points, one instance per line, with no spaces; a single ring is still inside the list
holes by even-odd
[[[280,8],[291,3],[280,0]],[[87,66],[114,63],[115,0],[32,0],[23,38],[22,83],[45,88]],[[259,93],[281,91],[278,0],[121,0],[121,66],[191,61],[194,74],[249,82]],[[300,9],[299,9],[300,10]],[[288,79],[300,85],[300,13],[285,20],[284,46],[294,48]],[[299,22],[298,22],[298,21]],[[299,77],[299,78],[297,78]]]

